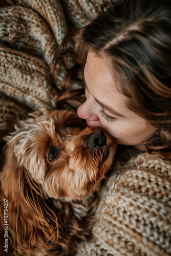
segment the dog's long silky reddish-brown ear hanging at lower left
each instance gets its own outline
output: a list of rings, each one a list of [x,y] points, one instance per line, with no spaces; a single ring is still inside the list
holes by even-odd
[[[4,224],[4,200],[8,201],[8,236],[19,255],[32,254],[37,248],[42,255],[56,249],[62,232],[61,220],[47,204],[39,184],[19,166],[11,148],[1,173],[0,216]],[[54,243],[55,242],[55,243]]]

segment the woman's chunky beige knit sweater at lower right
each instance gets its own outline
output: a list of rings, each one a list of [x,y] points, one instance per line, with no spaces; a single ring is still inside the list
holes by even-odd
[[[77,256],[171,255],[170,164],[143,153],[114,168],[101,191],[92,241]]]

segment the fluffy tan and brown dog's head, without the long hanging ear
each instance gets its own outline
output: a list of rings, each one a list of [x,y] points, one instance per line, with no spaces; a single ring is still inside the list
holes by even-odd
[[[35,112],[6,137],[7,161],[15,161],[47,198],[79,199],[99,188],[110,169],[116,144],[98,127],[81,123],[67,110]],[[15,159],[15,160],[14,160]]]

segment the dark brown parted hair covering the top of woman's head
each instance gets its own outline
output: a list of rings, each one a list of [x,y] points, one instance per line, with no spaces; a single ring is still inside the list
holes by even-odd
[[[147,152],[171,159],[171,2],[103,0],[76,36],[75,58],[82,67],[88,51],[110,58],[127,108],[157,132]],[[117,77],[116,77],[117,74]]]

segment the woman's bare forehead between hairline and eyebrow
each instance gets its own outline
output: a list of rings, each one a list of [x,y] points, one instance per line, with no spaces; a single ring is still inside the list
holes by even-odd
[[[112,63],[106,55],[88,53],[84,78],[90,94],[98,101],[110,105],[114,111],[129,115],[132,112],[126,107],[128,98],[119,92],[113,73]]]

